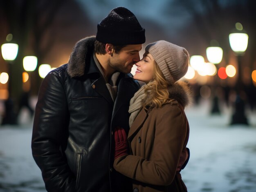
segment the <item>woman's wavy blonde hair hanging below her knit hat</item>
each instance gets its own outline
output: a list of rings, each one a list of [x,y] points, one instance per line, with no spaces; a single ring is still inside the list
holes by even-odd
[[[162,107],[171,100],[168,92],[168,86],[170,84],[164,78],[162,71],[155,61],[153,71],[154,79],[146,84],[144,88],[147,96],[142,105],[145,109]]]

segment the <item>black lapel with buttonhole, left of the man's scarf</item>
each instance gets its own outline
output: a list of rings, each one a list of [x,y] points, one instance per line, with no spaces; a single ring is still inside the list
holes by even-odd
[[[92,88],[94,88],[94,90],[99,93],[100,95],[102,95],[110,104],[113,104],[113,100],[112,97],[109,93],[109,90],[105,84],[105,80],[103,79],[103,77],[99,77],[99,79],[97,79],[95,82],[92,83]]]

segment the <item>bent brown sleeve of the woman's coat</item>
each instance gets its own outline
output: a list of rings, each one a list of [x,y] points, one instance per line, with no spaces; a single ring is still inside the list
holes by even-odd
[[[170,185],[184,147],[186,119],[177,106],[168,106],[168,111],[164,114],[155,114],[155,136],[151,136],[155,139],[150,161],[143,157],[127,155],[116,159],[114,168],[140,182]]]

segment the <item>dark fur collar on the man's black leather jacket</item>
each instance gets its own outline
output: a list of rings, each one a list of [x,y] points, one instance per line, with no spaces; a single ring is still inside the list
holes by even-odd
[[[68,61],[67,73],[70,77],[84,75],[85,64],[90,60],[94,51],[95,36],[84,38],[76,43]]]

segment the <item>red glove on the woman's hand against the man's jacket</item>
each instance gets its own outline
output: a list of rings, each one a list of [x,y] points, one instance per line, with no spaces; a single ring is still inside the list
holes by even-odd
[[[128,154],[128,142],[123,128],[115,128],[115,159]]]

